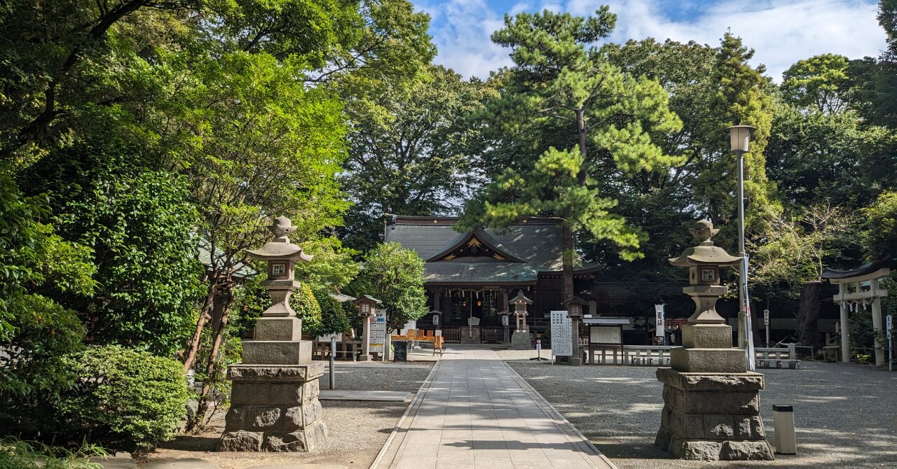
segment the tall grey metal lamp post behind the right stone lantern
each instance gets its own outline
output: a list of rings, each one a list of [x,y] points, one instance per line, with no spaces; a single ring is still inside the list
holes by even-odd
[[[731,126],[729,142],[738,157],[738,256],[741,268],[738,279],[738,348],[745,350],[747,369],[754,370],[751,303],[747,295],[747,253],[745,252],[745,153],[749,150],[753,126]]]

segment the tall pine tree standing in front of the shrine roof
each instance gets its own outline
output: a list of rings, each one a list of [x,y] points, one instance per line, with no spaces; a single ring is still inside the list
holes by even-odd
[[[651,132],[672,132],[681,121],[667,108],[656,81],[623,74],[589,46],[605,38],[615,16],[519,13],[505,17],[492,40],[511,49],[515,66],[500,80],[501,96],[488,103],[494,122],[493,167],[505,166],[479,200],[466,207],[459,228],[507,226],[527,215],[562,217],[564,296],[573,294],[576,233],[605,239],[622,256],[640,256],[645,235],[613,212],[605,174],[631,176],[668,169],[679,158],[661,151]],[[522,141],[518,135],[529,134]],[[514,156],[512,156],[514,155]],[[510,164],[517,158],[516,164]],[[508,163],[508,164],[504,164]]]

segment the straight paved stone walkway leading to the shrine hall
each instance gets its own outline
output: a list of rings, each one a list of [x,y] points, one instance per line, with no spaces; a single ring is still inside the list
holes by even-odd
[[[378,467],[614,469],[491,349],[452,347],[436,366]]]

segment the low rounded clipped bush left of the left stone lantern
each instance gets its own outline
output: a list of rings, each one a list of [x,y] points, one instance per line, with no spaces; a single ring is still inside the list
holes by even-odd
[[[186,417],[187,386],[175,360],[117,345],[89,347],[65,360],[79,377],[57,404],[69,435],[144,452],[172,438]]]

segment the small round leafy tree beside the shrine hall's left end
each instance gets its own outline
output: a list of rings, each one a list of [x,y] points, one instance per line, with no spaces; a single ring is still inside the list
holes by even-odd
[[[428,312],[423,259],[398,243],[384,243],[369,251],[355,282],[359,294],[383,301],[381,308],[387,310],[389,330],[405,326]]]

